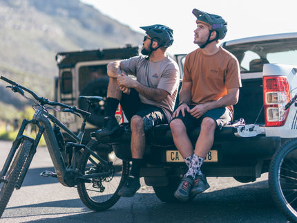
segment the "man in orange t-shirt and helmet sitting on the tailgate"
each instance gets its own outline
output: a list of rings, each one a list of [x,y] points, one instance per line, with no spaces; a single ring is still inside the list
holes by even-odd
[[[186,56],[180,104],[170,123],[175,146],[189,167],[174,194],[182,201],[209,188],[200,167],[213,145],[215,129],[232,121],[232,105],[238,102],[241,87],[238,60],[218,45],[227,33],[227,22],[197,9],[193,14],[197,17],[194,43],[200,48]],[[187,132],[199,125],[193,151]]]

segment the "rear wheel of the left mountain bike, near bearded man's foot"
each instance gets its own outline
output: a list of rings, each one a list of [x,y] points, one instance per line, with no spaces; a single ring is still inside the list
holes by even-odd
[[[97,144],[97,141],[91,140],[87,146],[94,152],[97,152],[95,150]],[[91,163],[89,157],[88,151],[84,150],[79,161],[79,170],[82,173],[92,170],[95,166],[100,166],[100,161],[96,159],[96,163]],[[115,157],[113,159],[113,167],[113,173],[108,177],[97,177],[93,178],[91,183],[81,182],[77,184],[80,199],[91,210],[105,211],[111,208],[119,199],[117,192],[128,177],[130,164],[128,161],[122,161]]]

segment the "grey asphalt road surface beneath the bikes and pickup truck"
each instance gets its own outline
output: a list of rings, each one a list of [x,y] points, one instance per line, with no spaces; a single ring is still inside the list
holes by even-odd
[[[0,167],[10,145],[0,141]],[[39,147],[23,186],[12,194],[0,222],[287,222],[271,199],[267,175],[249,184],[209,177],[209,190],[193,202],[175,204],[161,202],[142,181],[134,197],[122,197],[108,211],[94,212],[82,204],[76,188],[39,177],[44,170],[53,168],[48,151]]]

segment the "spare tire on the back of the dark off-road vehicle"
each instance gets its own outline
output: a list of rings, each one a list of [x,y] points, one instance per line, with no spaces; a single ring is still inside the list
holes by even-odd
[[[93,105],[90,109],[90,117],[88,118],[88,123],[101,128],[103,125],[104,117],[106,116],[105,102],[108,87],[108,78],[100,78],[93,80],[86,84],[82,91],[80,91],[80,96],[102,96],[103,100],[97,105]],[[88,103],[86,100],[79,99],[78,101],[79,109],[85,110],[88,108]]]

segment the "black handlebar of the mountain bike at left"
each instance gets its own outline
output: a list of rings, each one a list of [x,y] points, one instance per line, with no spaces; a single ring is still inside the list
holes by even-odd
[[[2,75],[1,75],[0,79],[8,82],[9,84],[12,84],[12,91],[21,93],[22,95],[23,95],[23,92],[21,92],[20,89],[23,89],[24,91],[27,91],[28,93],[30,93],[33,96],[33,98],[35,98],[37,101],[39,101],[41,103],[41,105],[61,106],[61,107],[64,107],[66,109],[70,109],[68,111],[64,110],[66,112],[75,111],[75,112],[77,112],[79,114],[82,114],[83,116],[90,116],[90,112],[84,111],[82,109],[78,109],[75,106],[71,107],[71,106],[65,105],[65,104],[63,104],[61,102],[54,102],[54,101],[48,100],[48,98],[39,97],[34,91],[31,91],[30,89],[21,86],[21,84],[17,84],[16,82],[14,82],[12,80],[9,80],[8,78],[3,77]],[[14,89],[14,87],[16,87],[17,89],[16,88]]]

